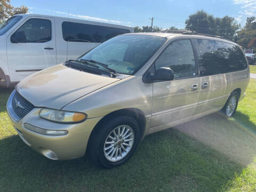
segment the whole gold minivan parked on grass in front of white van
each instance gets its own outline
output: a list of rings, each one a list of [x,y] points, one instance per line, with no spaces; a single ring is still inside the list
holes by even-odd
[[[7,111],[20,138],[45,157],[86,152],[111,168],[147,134],[219,110],[232,117],[249,78],[243,51],[227,39],[125,34],[23,79]]]

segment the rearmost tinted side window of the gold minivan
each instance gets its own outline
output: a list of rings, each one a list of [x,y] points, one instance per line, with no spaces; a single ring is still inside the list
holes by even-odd
[[[227,46],[229,50],[228,72],[246,69],[247,62],[241,49],[232,44],[227,44]]]

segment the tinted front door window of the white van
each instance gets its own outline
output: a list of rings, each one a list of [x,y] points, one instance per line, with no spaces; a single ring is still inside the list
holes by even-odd
[[[12,43],[44,43],[52,39],[51,21],[29,19],[11,36]]]

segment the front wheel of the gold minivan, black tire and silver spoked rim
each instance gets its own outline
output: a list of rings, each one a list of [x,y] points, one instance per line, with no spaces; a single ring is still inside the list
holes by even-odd
[[[124,164],[132,156],[140,141],[139,125],[129,116],[118,116],[110,121],[104,121],[96,129],[89,141],[88,155],[93,163],[107,169]]]

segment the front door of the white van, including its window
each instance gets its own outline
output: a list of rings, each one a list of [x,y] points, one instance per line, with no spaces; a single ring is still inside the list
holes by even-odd
[[[54,18],[29,17],[7,37],[12,82],[57,64]]]

